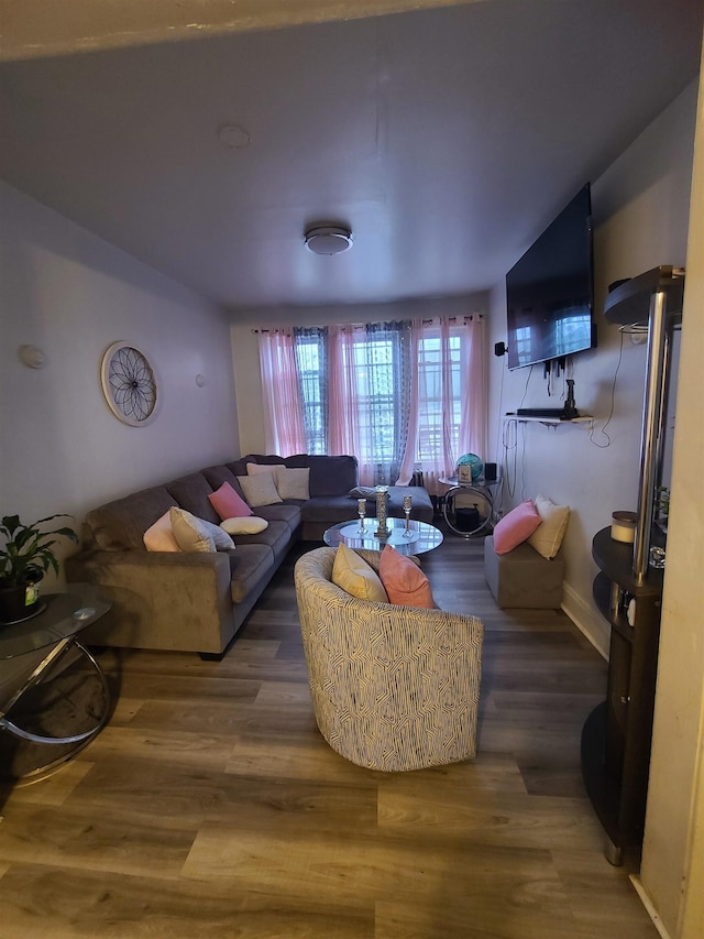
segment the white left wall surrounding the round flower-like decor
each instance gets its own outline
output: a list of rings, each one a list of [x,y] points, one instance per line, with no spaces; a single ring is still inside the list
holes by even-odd
[[[2,183],[0,218],[0,514],[78,523],[112,498],[237,456],[222,313]],[[145,427],[120,423],[102,396],[102,354],[118,340],[143,347],[161,379]],[[23,365],[22,345],[40,347],[45,368]]]

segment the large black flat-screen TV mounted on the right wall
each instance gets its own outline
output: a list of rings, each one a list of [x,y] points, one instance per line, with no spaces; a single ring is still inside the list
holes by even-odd
[[[588,183],[506,274],[508,368],[596,346]]]

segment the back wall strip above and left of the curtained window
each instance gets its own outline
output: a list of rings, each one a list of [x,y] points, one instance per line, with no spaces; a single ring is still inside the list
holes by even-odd
[[[238,321],[232,325],[232,354],[238,396],[240,451],[242,454],[265,452],[262,376],[255,328],[324,326],[330,323],[383,323],[415,317],[429,319],[433,316],[460,317],[472,313],[485,314],[487,309],[488,295],[480,293],[393,304],[238,310]]]

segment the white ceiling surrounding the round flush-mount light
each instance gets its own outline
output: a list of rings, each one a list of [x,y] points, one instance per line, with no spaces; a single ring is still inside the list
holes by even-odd
[[[487,0],[6,62],[0,176],[230,308],[481,291],[696,76],[702,7]],[[319,258],[328,220],[354,244]]]

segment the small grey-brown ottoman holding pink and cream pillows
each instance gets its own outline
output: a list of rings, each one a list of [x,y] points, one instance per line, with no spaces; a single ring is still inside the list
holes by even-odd
[[[494,550],[494,538],[484,541],[484,577],[498,607],[558,610],[562,603],[564,561],[561,552],[547,560],[527,542],[504,555]]]

